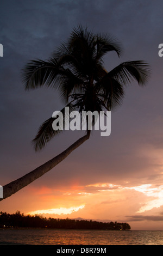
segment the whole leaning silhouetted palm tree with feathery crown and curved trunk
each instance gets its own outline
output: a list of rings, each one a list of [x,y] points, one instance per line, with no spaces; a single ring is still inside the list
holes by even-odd
[[[104,56],[115,51],[121,56],[121,46],[109,35],[94,34],[79,26],[70,38],[61,44],[47,61],[31,60],[22,69],[26,90],[47,86],[58,89],[70,111],[111,111],[121,105],[124,86],[136,80],[140,86],[147,82],[149,66],[143,61],[121,63],[111,71],[103,66]],[[62,109],[63,112],[63,109]],[[35,151],[41,150],[60,130],[54,131],[54,118],[47,119],[33,140]],[[7,198],[39,178],[64,160],[74,149],[90,137],[90,130],[58,156],[42,164],[20,179],[3,187],[3,198]]]

